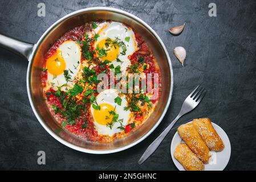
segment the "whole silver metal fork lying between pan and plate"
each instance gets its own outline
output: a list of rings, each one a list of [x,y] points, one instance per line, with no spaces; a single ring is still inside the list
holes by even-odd
[[[206,93],[206,90],[200,85],[196,87],[196,89],[193,90],[192,93],[189,94],[189,96],[185,99],[185,101],[182,104],[180,113],[178,113],[177,117],[173,120],[172,123],[164,131],[162,131],[161,135],[157,137],[154,142],[151,143],[151,145],[147,148],[147,150],[144,152],[144,154],[141,156],[139,160],[139,164],[142,164],[145,160],[155,152],[157,147],[159,147],[162,140],[164,140],[165,136],[169,133],[170,129],[172,129],[173,125],[182,117],[182,115],[189,113],[192,111],[204,98]]]

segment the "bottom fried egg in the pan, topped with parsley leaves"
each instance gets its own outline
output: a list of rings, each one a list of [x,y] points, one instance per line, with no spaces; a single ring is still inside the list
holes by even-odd
[[[123,131],[121,127],[128,125],[131,113],[129,110],[124,110],[124,107],[127,106],[127,100],[125,100],[125,96],[120,97],[121,105],[118,105],[115,103],[115,98],[117,97],[119,97],[119,95],[116,89],[103,90],[96,96],[96,103],[100,106],[100,109],[94,109],[91,105],[90,110],[98,134],[111,137],[113,134]],[[114,117],[113,114],[110,114],[112,111],[118,114],[118,118],[117,121],[113,123],[112,127],[109,127],[109,123],[111,123]]]

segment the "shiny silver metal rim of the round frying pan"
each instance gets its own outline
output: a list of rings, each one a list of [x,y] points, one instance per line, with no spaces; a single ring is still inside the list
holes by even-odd
[[[44,38],[49,34],[49,32],[51,32],[56,26],[58,26],[59,23],[63,22],[63,20],[70,18],[71,16],[75,16],[78,15],[80,13],[84,13],[86,11],[111,11],[113,13],[119,13],[119,14],[123,14],[125,16],[128,16],[129,18],[136,20],[137,22],[141,23],[145,28],[147,28],[157,39],[157,41],[159,41],[160,45],[162,46],[162,48],[164,49],[165,55],[168,59],[168,64],[169,64],[169,69],[170,69],[170,92],[169,92],[169,96],[168,96],[168,101],[166,102],[165,108],[162,111],[161,117],[158,119],[158,121],[155,123],[155,125],[153,125],[153,127],[144,135],[142,135],[140,138],[137,138],[137,140],[135,140],[132,143],[129,143],[125,146],[119,147],[119,148],[115,148],[115,149],[111,149],[111,150],[91,150],[88,148],[83,148],[80,146],[76,146],[75,144],[72,144],[70,142],[68,142],[67,140],[62,139],[61,137],[59,137],[57,134],[54,133],[54,131],[52,131],[50,129],[50,127],[48,127],[46,125],[46,123],[44,122],[44,119],[40,116],[39,112],[36,109],[36,106],[34,105],[34,101],[32,100],[32,94],[31,94],[31,67],[32,67],[32,63],[34,61],[34,57],[35,57],[35,53],[38,51],[38,48],[40,46],[40,44],[43,42]],[[162,119],[164,118],[166,111],[168,110],[168,107],[170,105],[170,100],[172,98],[172,93],[173,93],[173,68],[172,68],[172,63],[170,61],[170,57],[169,57],[169,53],[166,49],[166,47],[164,46],[164,43],[162,42],[162,40],[160,39],[159,35],[157,35],[157,33],[147,24],[145,23],[143,20],[141,20],[140,18],[138,18],[137,16],[128,13],[127,11],[123,11],[120,9],[116,9],[116,8],[112,8],[112,7],[89,7],[86,9],[81,9],[78,11],[74,11],[70,14],[67,14],[65,16],[63,16],[62,18],[60,18],[59,20],[57,20],[54,24],[52,24],[45,32],[44,34],[40,37],[40,39],[38,40],[38,42],[35,44],[35,47],[31,53],[31,56],[29,58],[29,65],[28,65],[28,69],[27,69],[27,94],[29,97],[29,101],[30,101],[30,105],[32,107],[32,110],[36,116],[36,118],[38,119],[39,123],[43,126],[44,130],[47,131],[48,134],[50,134],[53,138],[55,138],[56,140],[58,140],[60,143],[64,144],[65,146],[72,148],[74,150],[80,151],[80,152],[86,152],[89,154],[111,154],[111,153],[115,153],[115,152],[119,152],[119,151],[123,151],[126,150],[128,148],[131,148],[133,146],[135,146],[136,144],[142,142],[145,138],[147,138],[153,131],[155,131],[155,129],[157,128],[157,126],[159,126],[159,124],[161,123]]]

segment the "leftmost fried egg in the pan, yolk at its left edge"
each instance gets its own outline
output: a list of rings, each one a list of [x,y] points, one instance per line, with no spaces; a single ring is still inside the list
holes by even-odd
[[[66,88],[67,85],[71,85],[75,76],[78,74],[80,68],[81,59],[81,48],[80,46],[71,40],[63,42],[56,53],[46,60],[47,68],[47,82],[48,85],[53,86],[55,89],[62,86],[62,90]],[[64,70],[69,81],[66,80]],[[67,84],[66,86],[63,86]]]

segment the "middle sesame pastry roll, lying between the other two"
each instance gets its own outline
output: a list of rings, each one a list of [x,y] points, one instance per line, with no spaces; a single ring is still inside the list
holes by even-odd
[[[192,123],[186,123],[178,127],[178,134],[185,141],[190,150],[192,150],[204,164],[209,163],[209,148]]]

